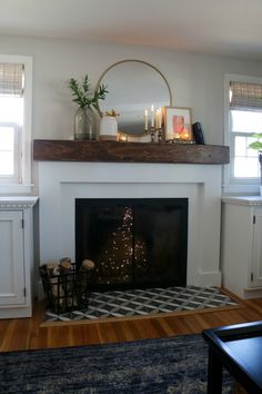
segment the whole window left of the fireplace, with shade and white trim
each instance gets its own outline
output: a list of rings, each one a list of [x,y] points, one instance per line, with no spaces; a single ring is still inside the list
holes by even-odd
[[[31,58],[0,56],[0,193],[30,191],[31,73]]]

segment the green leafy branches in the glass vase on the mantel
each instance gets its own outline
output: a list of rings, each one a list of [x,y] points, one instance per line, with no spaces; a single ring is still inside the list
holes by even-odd
[[[93,106],[98,109],[98,101],[104,100],[108,93],[107,86],[102,83],[93,92],[93,96],[91,96],[88,75],[82,78],[81,82],[71,78],[69,81],[69,88],[72,90],[73,102],[77,102],[80,108]]]

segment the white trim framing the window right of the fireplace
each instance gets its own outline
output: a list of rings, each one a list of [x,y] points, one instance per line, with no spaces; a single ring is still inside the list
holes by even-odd
[[[255,179],[234,179],[233,174],[233,149],[231,145],[231,129],[230,129],[230,82],[251,82],[251,83],[261,83],[262,77],[251,77],[244,75],[232,75],[228,73],[224,76],[224,145],[230,147],[230,164],[223,166],[223,184],[222,191],[223,194],[260,194],[260,178]]]

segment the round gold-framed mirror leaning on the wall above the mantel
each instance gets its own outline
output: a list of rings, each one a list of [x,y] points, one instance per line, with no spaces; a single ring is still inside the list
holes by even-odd
[[[145,128],[145,111],[172,106],[172,96],[164,76],[152,65],[142,60],[122,60],[109,67],[99,85],[109,91],[105,100],[99,101],[102,114],[119,112],[120,132],[141,136]]]

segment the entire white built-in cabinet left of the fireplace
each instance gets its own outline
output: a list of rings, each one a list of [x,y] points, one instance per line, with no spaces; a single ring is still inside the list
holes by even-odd
[[[37,197],[0,197],[0,318],[32,315],[37,200]]]

